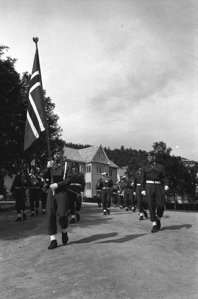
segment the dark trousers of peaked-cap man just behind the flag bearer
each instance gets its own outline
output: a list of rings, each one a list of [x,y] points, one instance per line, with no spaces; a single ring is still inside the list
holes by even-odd
[[[80,186],[76,186],[76,185],[72,185],[69,186],[69,189],[81,194],[81,187]],[[75,205],[76,205],[76,209],[75,209]],[[82,205],[82,196],[81,195],[77,195],[71,191],[69,191],[69,210],[70,210],[70,215],[75,215],[75,210],[80,212],[81,210],[81,205]]]

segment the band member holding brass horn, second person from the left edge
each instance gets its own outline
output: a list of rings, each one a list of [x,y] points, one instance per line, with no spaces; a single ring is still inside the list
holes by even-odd
[[[42,180],[38,177],[38,170],[35,169],[33,174],[30,174],[30,183],[32,184],[30,189],[30,217],[34,217],[34,203],[36,209],[36,216],[38,216],[39,200],[40,200],[40,188],[42,187]]]

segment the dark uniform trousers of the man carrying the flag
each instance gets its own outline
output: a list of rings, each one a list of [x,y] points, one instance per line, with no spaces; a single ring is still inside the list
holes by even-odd
[[[68,227],[68,192],[59,189],[55,189],[55,192],[56,194],[53,195],[51,188],[47,191],[46,215],[49,235],[57,234],[56,212],[61,228]]]

